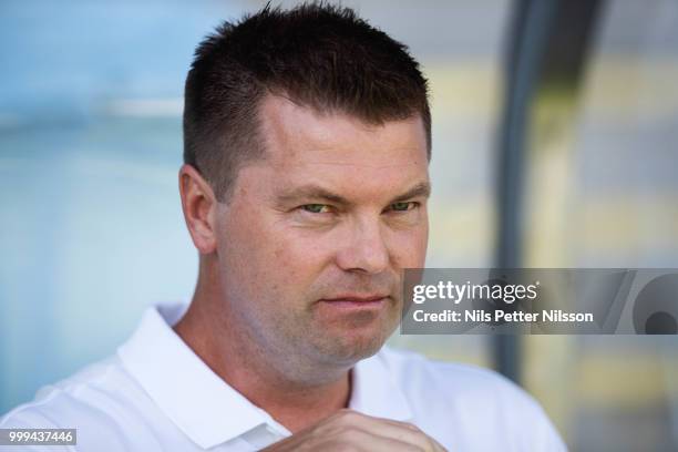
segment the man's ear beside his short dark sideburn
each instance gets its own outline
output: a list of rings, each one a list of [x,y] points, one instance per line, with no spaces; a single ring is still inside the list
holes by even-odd
[[[212,254],[216,249],[217,199],[214,191],[191,165],[182,166],[178,178],[184,219],[193,244],[201,254]]]

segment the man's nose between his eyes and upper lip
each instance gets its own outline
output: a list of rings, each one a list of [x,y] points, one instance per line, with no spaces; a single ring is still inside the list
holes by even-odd
[[[378,219],[357,220],[347,235],[337,254],[341,269],[376,275],[388,268],[389,248]]]

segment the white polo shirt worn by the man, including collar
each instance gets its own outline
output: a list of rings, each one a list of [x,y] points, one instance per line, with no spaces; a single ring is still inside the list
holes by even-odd
[[[115,356],[0,419],[0,428],[78,429],[78,445],[6,450],[256,451],[288,436],[174,332],[185,309],[150,308]],[[349,405],[411,422],[450,451],[566,450],[540,405],[503,377],[387,347],[356,364]]]

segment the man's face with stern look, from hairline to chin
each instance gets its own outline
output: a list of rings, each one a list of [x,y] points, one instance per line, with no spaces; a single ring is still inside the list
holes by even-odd
[[[396,328],[401,270],[424,264],[422,122],[373,126],[276,96],[260,119],[266,157],[217,208],[224,300],[258,350],[352,364]]]

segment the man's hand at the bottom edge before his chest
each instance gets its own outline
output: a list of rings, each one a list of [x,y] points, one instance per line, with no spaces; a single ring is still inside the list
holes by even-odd
[[[443,452],[446,449],[410,423],[340,410],[261,452],[286,451]]]

